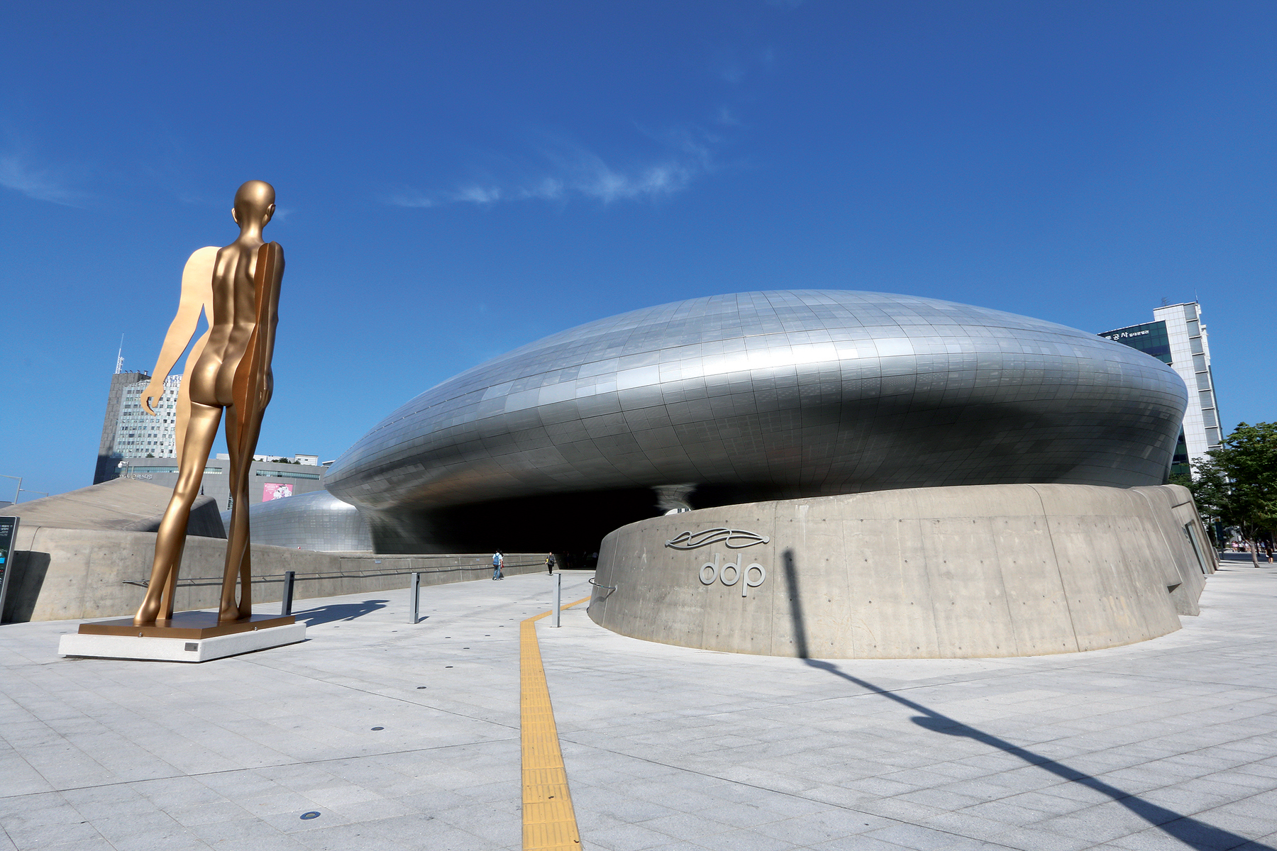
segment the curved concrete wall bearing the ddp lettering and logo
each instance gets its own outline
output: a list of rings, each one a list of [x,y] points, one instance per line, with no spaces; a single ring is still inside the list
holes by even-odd
[[[767,540],[667,545],[714,528]],[[1188,490],[1174,485],[923,487],[751,503],[609,535],[589,611],[624,635],[741,653],[1065,653],[1179,629],[1177,615],[1197,614],[1214,569],[1207,540]]]

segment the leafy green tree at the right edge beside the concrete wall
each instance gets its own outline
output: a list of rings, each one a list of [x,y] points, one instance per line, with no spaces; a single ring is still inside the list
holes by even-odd
[[[1277,528],[1277,422],[1241,422],[1207,455],[1193,462],[1198,510],[1237,527],[1258,568],[1257,542]]]

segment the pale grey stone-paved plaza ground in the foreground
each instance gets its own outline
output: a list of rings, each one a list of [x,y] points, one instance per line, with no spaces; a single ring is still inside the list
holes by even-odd
[[[3,626],[0,851],[521,848],[520,623],[550,591],[424,588],[416,625],[406,591],[299,601],[305,643],[202,665],[60,658],[77,623]],[[590,851],[1277,845],[1274,566],[1226,563],[1171,635],[1033,658],[562,623],[536,634]]]

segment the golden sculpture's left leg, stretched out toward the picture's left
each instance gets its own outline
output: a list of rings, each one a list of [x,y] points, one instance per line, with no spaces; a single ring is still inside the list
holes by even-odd
[[[186,440],[183,445],[179,463],[178,484],[172,489],[169,508],[160,521],[156,533],[156,558],[151,563],[151,582],[147,596],[142,600],[138,612],[133,616],[137,626],[153,624],[161,611],[165,589],[170,575],[175,575],[181,561],[181,550],[186,544],[186,523],[190,521],[190,507],[199,496],[199,482],[204,476],[204,463],[208,450],[213,448],[217,425],[222,417],[218,407],[192,403],[190,421],[186,425]],[[171,609],[171,597],[169,607]]]

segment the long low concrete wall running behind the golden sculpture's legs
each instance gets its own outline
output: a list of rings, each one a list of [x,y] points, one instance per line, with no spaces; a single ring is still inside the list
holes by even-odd
[[[19,527],[3,623],[79,620],[132,615],[146,593],[155,558],[153,532],[112,532]],[[188,537],[175,609],[216,607],[221,596],[226,541]],[[544,570],[540,554],[510,554],[506,573]],[[312,552],[253,545],[253,601],[277,602],[283,572],[296,572],[294,597],[407,588],[409,573],[421,584],[443,584],[492,575],[492,554],[374,555]]]

